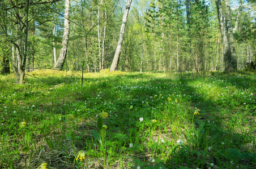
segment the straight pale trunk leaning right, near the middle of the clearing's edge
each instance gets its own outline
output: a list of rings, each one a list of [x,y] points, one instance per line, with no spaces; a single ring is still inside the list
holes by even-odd
[[[118,40],[118,43],[117,43],[117,49],[116,49],[116,52],[114,54],[114,59],[112,61],[112,64],[110,66],[110,72],[116,70],[117,66],[118,66],[119,57],[120,57],[120,54],[121,54],[121,51],[122,51],[123,36],[125,34],[125,25],[126,25],[126,22],[127,22],[128,13],[129,13],[130,6],[131,6],[131,1],[132,0],[127,0],[126,7],[125,7],[125,12],[123,13],[123,22],[122,22],[121,29],[120,29],[120,35],[119,35],[119,40]]]

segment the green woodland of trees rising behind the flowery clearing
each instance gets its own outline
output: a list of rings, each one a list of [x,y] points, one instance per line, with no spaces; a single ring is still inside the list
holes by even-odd
[[[131,9],[117,70],[205,74],[242,70],[246,63],[255,63],[253,1],[127,3]],[[0,7],[1,72],[19,76],[20,68],[24,76],[24,71],[57,68],[57,61],[65,70],[110,68],[127,4],[12,0],[2,1]]]

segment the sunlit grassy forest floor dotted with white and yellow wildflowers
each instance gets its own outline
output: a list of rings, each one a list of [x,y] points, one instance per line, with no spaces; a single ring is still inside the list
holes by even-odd
[[[255,73],[0,75],[0,167],[256,168]]]

